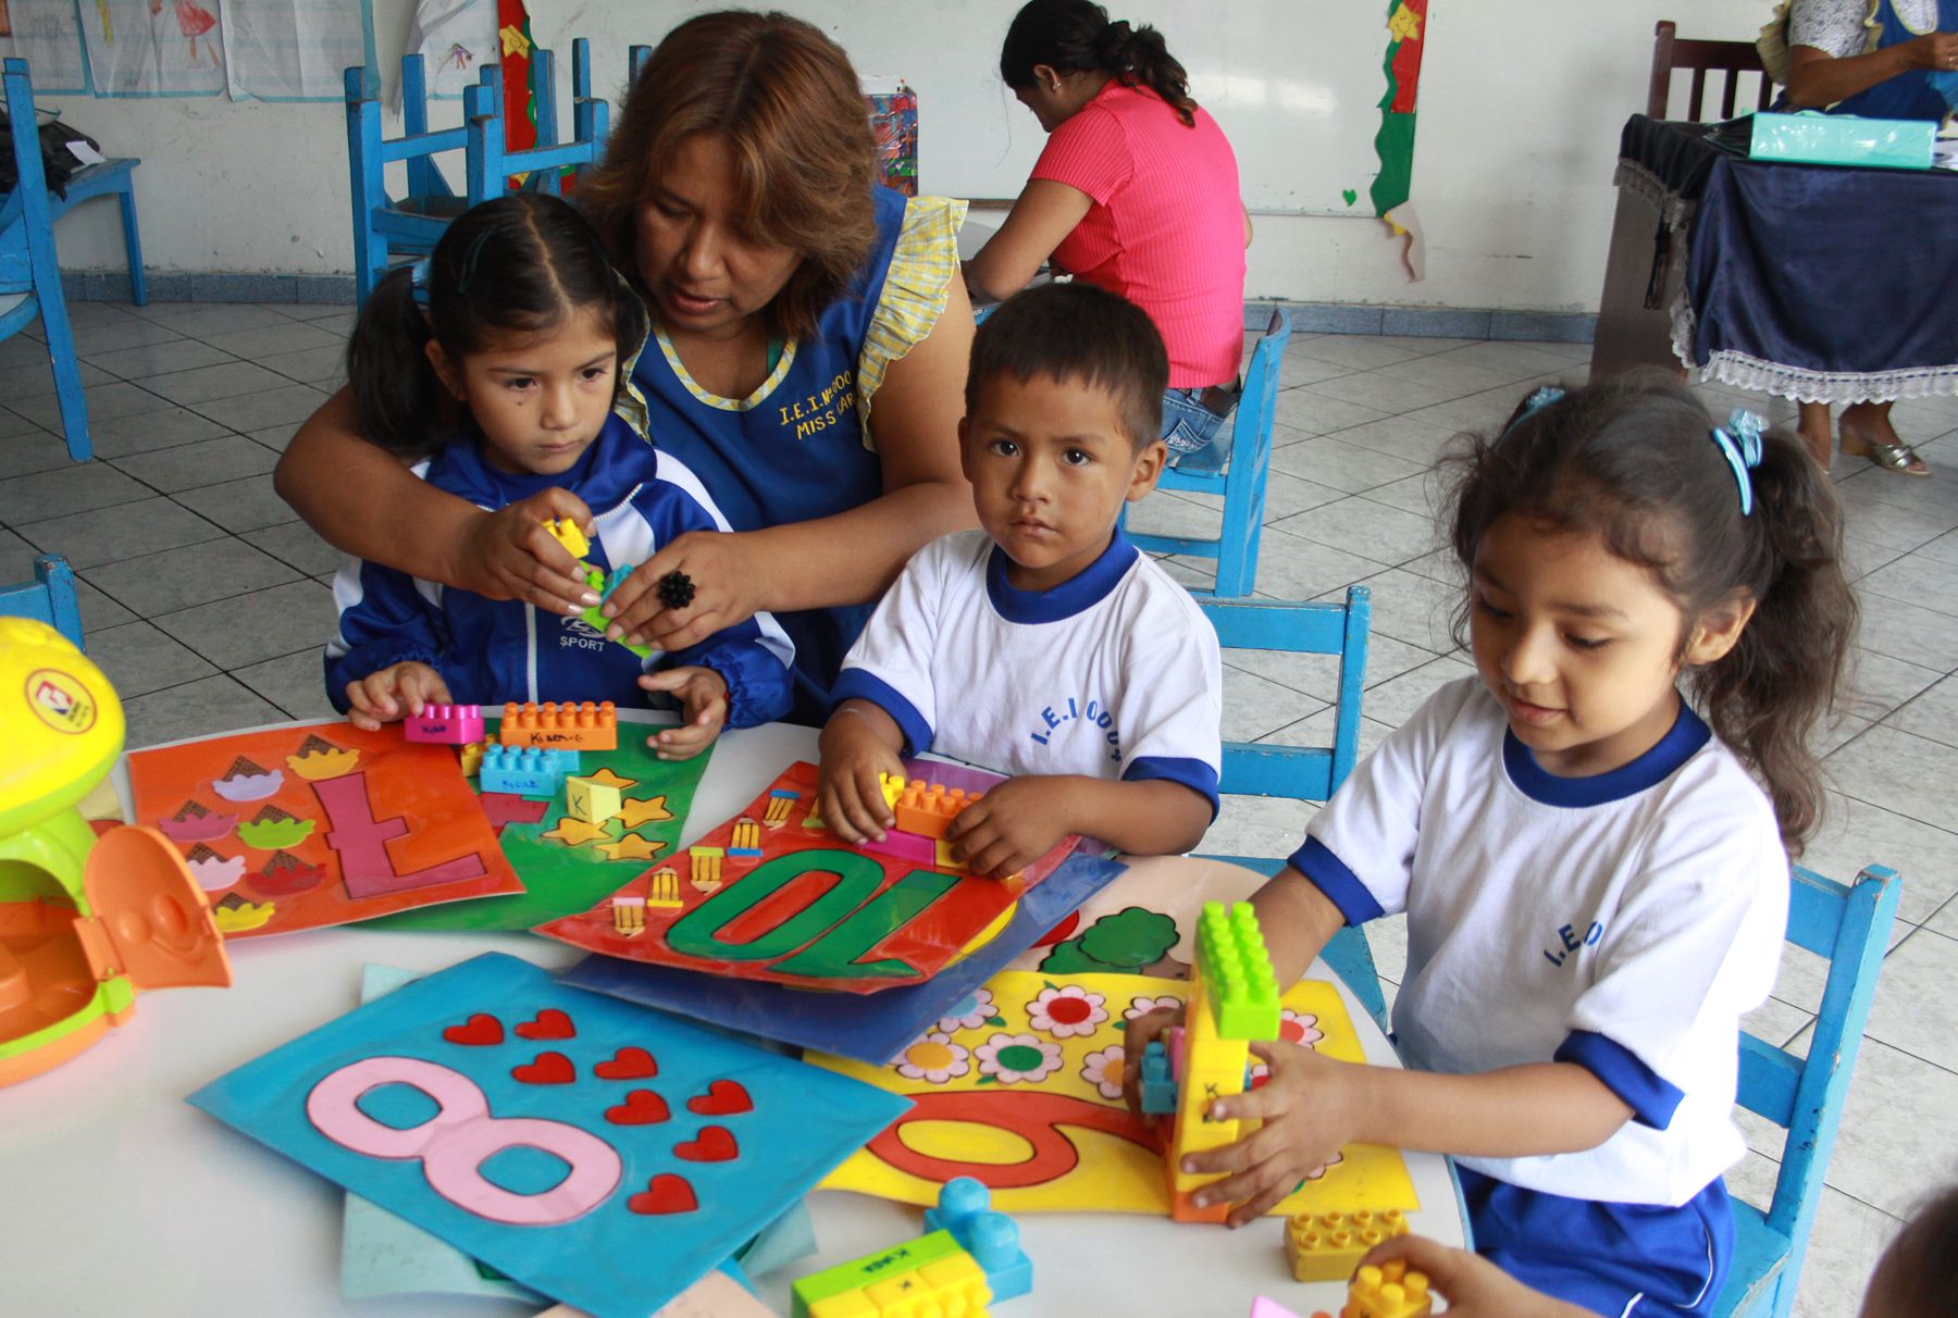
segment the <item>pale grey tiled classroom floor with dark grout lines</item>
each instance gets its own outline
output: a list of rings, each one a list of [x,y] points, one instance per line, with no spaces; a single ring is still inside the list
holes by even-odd
[[[35,550],[74,562],[88,648],[127,703],[131,746],[329,713],[317,654],[337,556],[272,494],[270,468],[337,386],[350,311],[70,304],[70,315],[102,460],[72,466],[51,433],[41,345],[0,343],[0,582],[29,576]],[[1562,343],[1294,335],[1257,584],[1279,599],[1373,586],[1363,750],[1468,672],[1449,640],[1459,591],[1435,552],[1427,464],[1453,433],[1500,423],[1537,384],[1582,380],[1588,354]],[[1758,396],[1702,392],[1715,415],[1739,403],[1792,415]],[[1864,644],[1856,697],[1825,738],[1831,819],[1805,860],[1839,877],[1889,864],[1905,891],[1795,1310],[1813,1316],[1854,1312],[1899,1218],[1958,1179],[1958,400],[1899,403],[1895,415],[1936,478],[1837,464]],[[1218,511],[1157,494],[1132,525],[1214,535]],[[1194,560],[1171,564],[1204,584]],[[1228,662],[1228,736],[1324,740],[1328,664]],[[1302,823],[1294,805],[1232,801],[1206,850],[1281,856]],[[1369,936],[1392,993],[1404,936],[1394,924]],[[1803,960],[1784,964],[1776,999],[1750,1022],[1797,1050],[1821,983]],[[1754,1152],[1731,1183],[1764,1200],[1780,1140],[1760,1122],[1747,1130]]]

